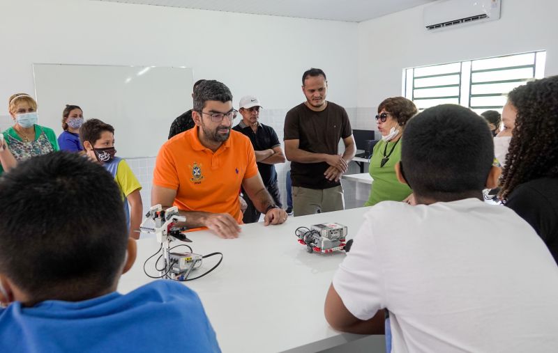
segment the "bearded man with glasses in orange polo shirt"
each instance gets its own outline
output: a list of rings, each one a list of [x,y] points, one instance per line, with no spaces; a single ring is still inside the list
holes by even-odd
[[[214,80],[199,84],[192,111],[196,126],[163,144],[151,191],[151,204],[178,206],[188,228],[207,227],[225,238],[240,232],[241,187],[265,214],[266,226],[287,220],[264,187],[250,139],[231,131],[235,117],[225,84]]]

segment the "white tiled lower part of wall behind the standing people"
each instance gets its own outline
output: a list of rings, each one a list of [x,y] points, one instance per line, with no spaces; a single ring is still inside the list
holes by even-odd
[[[375,130],[374,116],[376,113],[375,108],[345,108],[347,114],[349,115],[349,120],[354,129],[362,130]],[[283,125],[285,122],[285,115],[289,109],[262,109],[259,115],[259,120],[265,124],[273,127],[276,131],[279,141],[283,143]],[[239,118],[234,122],[234,125],[239,123]],[[341,144],[342,145],[342,144]],[[147,212],[151,206],[151,182],[153,180],[153,168],[155,166],[155,157],[145,157],[145,158],[130,158],[126,159],[130,168],[136,175],[136,178],[140,180],[142,184],[142,201],[144,204],[144,214]],[[279,188],[281,190],[283,207],[287,207],[287,190],[285,187],[285,176],[287,171],[289,171],[290,162],[282,164],[276,164],[276,170],[278,174]],[[368,171],[365,168],[365,171]],[[349,164],[349,171],[347,174],[360,173],[359,167],[355,163]],[[355,185],[353,182],[342,182],[343,189],[345,189],[345,207],[360,207],[362,201],[357,200],[355,197]],[[361,196],[362,198],[362,196]],[[368,198],[368,196],[365,196]]]

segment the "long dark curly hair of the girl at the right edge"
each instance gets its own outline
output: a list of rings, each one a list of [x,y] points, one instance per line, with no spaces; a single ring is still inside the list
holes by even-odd
[[[500,196],[537,178],[558,177],[558,76],[514,88],[508,102],[517,109]]]

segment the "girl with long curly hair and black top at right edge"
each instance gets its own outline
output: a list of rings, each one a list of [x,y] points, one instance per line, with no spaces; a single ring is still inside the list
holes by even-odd
[[[502,120],[514,118],[500,197],[558,262],[558,76],[513,89]]]

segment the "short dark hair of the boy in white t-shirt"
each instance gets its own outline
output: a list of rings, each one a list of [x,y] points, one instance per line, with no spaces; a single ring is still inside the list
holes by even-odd
[[[409,120],[401,141],[405,180],[418,196],[453,201],[484,189],[494,143],[474,111],[456,104],[425,109]]]

